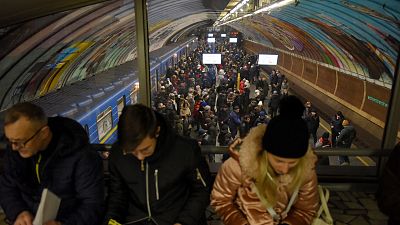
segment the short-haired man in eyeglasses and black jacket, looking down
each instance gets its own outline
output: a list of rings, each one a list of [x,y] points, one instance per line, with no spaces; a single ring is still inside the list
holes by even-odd
[[[103,213],[102,162],[82,126],[64,117],[47,118],[31,103],[5,113],[8,140],[0,206],[14,225],[32,225],[41,193],[61,198],[57,218],[45,225],[99,224]]]

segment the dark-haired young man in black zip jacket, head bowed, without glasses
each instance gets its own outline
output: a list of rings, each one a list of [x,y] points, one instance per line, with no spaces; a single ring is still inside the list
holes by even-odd
[[[106,223],[201,224],[209,204],[208,167],[198,143],[176,135],[160,114],[126,106],[109,160]]]

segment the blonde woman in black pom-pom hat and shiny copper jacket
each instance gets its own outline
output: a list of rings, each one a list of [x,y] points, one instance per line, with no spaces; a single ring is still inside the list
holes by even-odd
[[[319,195],[303,110],[298,98],[283,98],[280,115],[251,129],[238,155],[224,162],[210,205],[225,225],[311,223]]]

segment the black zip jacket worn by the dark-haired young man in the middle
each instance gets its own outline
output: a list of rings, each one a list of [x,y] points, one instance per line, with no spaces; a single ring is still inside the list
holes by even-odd
[[[195,140],[176,135],[160,114],[154,153],[143,164],[118,143],[109,160],[106,221],[172,225],[200,224],[209,204],[209,171]]]

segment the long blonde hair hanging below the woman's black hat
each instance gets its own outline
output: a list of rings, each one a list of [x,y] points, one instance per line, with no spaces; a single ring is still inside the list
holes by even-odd
[[[314,153],[311,148],[308,148],[306,155],[299,159],[299,162],[295,167],[290,169],[289,176],[293,179],[288,185],[289,192],[292,194],[297,187],[304,184],[306,176],[305,170],[309,168],[310,162],[312,162],[312,157]],[[256,192],[262,203],[266,204],[266,207],[273,207],[277,202],[277,184],[278,177],[274,172],[274,169],[268,162],[267,151],[261,151],[257,155],[258,163],[258,174],[255,177],[255,188]]]

